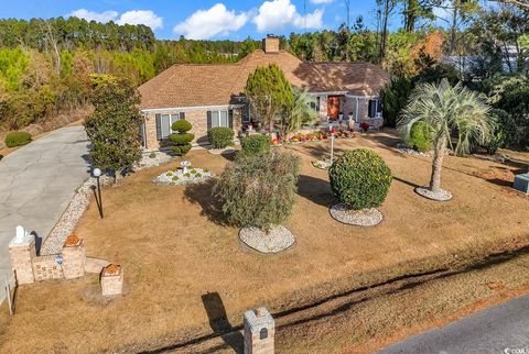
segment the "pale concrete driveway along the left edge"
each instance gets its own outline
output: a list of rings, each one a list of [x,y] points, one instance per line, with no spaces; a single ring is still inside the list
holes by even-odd
[[[83,126],[63,128],[0,161],[0,284],[10,269],[9,241],[18,224],[45,239],[89,177]],[[2,289],[0,287],[0,289]],[[0,291],[0,302],[3,299]]]

